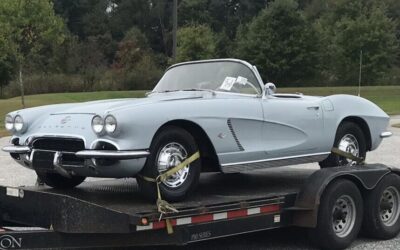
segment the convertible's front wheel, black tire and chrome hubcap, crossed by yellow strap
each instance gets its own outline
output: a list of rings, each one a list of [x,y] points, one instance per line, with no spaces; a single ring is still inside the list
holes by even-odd
[[[151,146],[151,155],[140,175],[156,178],[159,174],[177,166],[192,154],[198,151],[193,136],[186,130],[168,126],[154,138]],[[201,161],[195,160],[185,168],[168,177],[160,183],[160,192],[167,201],[179,201],[192,192],[200,178]],[[157,188],[154,182],[144,178],[137,178],[140,190],[144,196],[152,200],[157,198]]]

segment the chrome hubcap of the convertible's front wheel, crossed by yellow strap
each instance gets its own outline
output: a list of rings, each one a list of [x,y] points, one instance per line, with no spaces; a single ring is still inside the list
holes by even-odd
[[[186,149],[177,142],[171,142],[165,145],[157,156],[157,169],[159,173],[168,171],[183,162],[187,157]],[[172,176],[168,177],[163,184],[171,187],[180,187],[189,175],[189,166],[179,170]]]

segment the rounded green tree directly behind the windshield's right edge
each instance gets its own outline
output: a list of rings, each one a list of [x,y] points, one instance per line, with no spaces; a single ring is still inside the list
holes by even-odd
[[[271,3],[236,40],[234,54],[262,69],[264,80],[299,83],[316,71],[318,39],[294,0]]]

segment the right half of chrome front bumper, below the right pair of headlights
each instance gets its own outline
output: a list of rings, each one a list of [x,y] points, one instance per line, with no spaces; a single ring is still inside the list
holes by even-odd
[[[146,150],[135,151],[118,151],[118,150],[82,150],[75,153],[76,157],[93,159],[93,158],[106,158],[117,160],[128,160],[144,158],[150,155]]]

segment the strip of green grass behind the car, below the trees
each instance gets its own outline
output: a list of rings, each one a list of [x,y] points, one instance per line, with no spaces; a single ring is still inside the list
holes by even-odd
[[[305,95],[327,96],[332,94],[357,94],[357,87],[307,87],[278,88],[279,93],[301,92]],[[54,103],[83,102],[100,99],[143,97],[146,91],[103,91],[82,93],[60,93],[31,95],[26,97],[27,107],[36,107]],[[362,87],[361,96],[380,106],[390,115],[400,114],[400,86]],[[4,116],[10,111],[21,108],[20,97],[0,100],[0,137],[8,133],[3,129]]]

